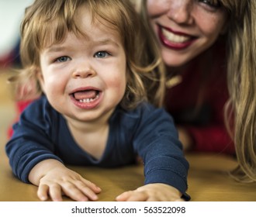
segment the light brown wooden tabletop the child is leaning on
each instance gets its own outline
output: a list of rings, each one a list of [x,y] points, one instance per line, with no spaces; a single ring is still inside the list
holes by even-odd
[[[24,184],[13,177],[7,157],[1,151],[0,201],[39,201],[36,186]],[[228,176],[236,162],[220,155],[189,154],[189,195],[192,202],[256,201],[256,184],[241,184]],[[143,184],[143,167],[116,169],[71,167],[102,188],[99,201],[115,201],[116,195]],[[68,201],[68,199],[65,199]]]

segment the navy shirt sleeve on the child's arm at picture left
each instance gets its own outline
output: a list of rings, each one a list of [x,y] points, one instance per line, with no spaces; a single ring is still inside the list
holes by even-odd
[[[29,172],[40,161],[61,161],[54,154],[54,144],[49,140],[49,120],[45,112],[45,103],[40,100],[29,105],[20,116],[19,122],[13,126],[13,135],[6,144],[5,151],[13,174],[21,181],[29,183]]]

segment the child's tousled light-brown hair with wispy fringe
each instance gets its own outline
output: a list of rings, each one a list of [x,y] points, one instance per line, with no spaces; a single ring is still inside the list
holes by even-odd
[[[147,47],[150,36],[133,5],[126,0],[36,0],[26,8],[21,24],[23,70],[10,81],[18,88],[28,81],[37,81],[35,68],[40,67],[40,51],[49,43],[61,43],[67,32],[82,34],[74,22],[81,5],[92,12],[92,20],[104,22],[121,37],[128,70],[123,108],[134,108],[147,100],[161,105],[164,95],[164,73],[158,70],[161,55]],[[40,93],[40,86],[37,87]]]

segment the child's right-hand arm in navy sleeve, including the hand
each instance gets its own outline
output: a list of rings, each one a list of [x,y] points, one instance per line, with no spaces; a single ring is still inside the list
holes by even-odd
[[[133,146],[144,162],[145,186],[121,198],[145,201],[181,201],[184,198],[189,201],[185,193],[189,162],[182,152],[173,119],[164,109],[150,110],[149,106],[141,114]]]

